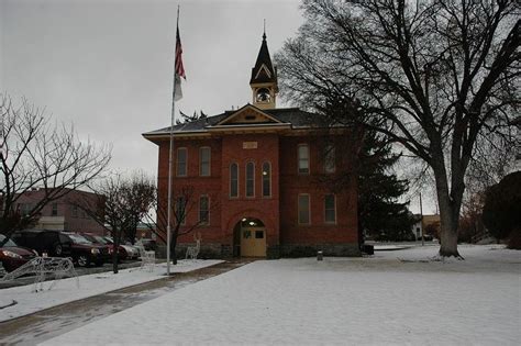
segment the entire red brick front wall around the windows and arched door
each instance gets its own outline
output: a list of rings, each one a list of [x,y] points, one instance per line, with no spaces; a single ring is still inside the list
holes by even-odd
[[[336,223],[324,223],[324,196],[330,190],[319,183],[323,163],[319,153],[320,138],[315,136],[286,136],[277,134],[224,135],[222,138],[176,139],[177,148],[188,150],[187,177],[174,176],[174,191],[193,187],[196,205],[188,212],[187,225],[197,221],[199,196],[211,197],[210,225],[197,230],[202,243],[233,245],[233,228],[243,217],[259,219],[266,226],[267,245],[286,244],[346,244],[357,243],[356,181],[336,193]],[[244,142],[256,142],[256,148],[243,148]],[[310,147],[310,175],[298,174],[297,147],[301,143]],[[211,147],[211,177],[199,176],[199,148]],[[159,145],[158,187],[159,198],[166,201],[168,180],[168,141]],[[341,146],[336,149],[336,167],[348,167],[352,157]],[[255,197],[245,197],[245,165],[255,164]],[[262,165],[271,164],[271,197],[262,197]],[[239,198],[230,198],[230,165],[239,164]],[[339,170],[339,169],[337,169]],[[309,193],[311,224],[298,225],[298,194]],[[215,207],[215,204],[218,204]],[[186,230],[186,228],[181,228]],[[192,243],[192,235],[179,238],[179,243]]]

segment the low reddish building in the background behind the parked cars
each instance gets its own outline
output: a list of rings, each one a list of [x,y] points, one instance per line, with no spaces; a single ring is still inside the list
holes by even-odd
[[[35,189],[20,196],[18,208],[22,214],[29,213],[44,197],[44,190]],[[88,200],[96,200],[92,192],[70,190],[64,197],[47,203],[41,211],[37,230],[88,232],[103,235],[104,228],[78,208]]]

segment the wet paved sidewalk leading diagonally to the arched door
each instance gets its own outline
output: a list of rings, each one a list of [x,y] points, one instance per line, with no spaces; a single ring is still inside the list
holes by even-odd
[[[85,324],[141,304],[187,284],[239,268],[248,261],[224,261],[169,278],[140,283],[0,323],[0,345],[35,345]]]

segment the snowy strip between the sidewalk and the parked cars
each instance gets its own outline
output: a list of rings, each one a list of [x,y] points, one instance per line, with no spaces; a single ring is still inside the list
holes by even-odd
[[[219,263],[222,260],[180,260],[178,265],[170,266],[170,272],[187,272]],[[67,278],[58,281],[52,290],[47,288],[53,281],[46,281],[45,290],[40,292],[32,292],[33,284],[2,289],[0,290],[0,308],[3,309],[0,309],[0,322],[129,286],[164,279],[165,274],[166,264],[157,264],[154,271],[148,271],[147,268],[131,268],[120,270],[117,275],[110,271],[80,276],[79,288],[76,286],[75,278]],[[13,301],[16,304],[4,308]]]

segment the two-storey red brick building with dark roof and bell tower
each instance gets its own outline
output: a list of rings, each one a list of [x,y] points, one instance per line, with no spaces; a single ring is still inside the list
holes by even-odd
[[[176,125],[174,199],[187,187],[196,208],[182,228],[198,227],[215,256],[358,255],[356,180],[334,191],[323,177],[345,172],[353,150],[323,145],[318,114],[276,108],[277,70],[263,35],[250,81],[252,104]],[[347,129],[336,129],[339,138]],[[170,127],[144,134],[158,155],[159,204],[167,198]],[[326,148],[326,149],[324,149]],[[182,248],[191,235],[179,238]]]

